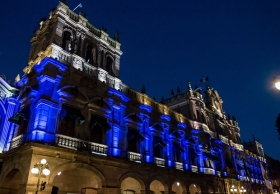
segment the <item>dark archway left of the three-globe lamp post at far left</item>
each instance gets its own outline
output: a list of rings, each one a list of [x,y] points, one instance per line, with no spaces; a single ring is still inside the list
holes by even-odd
[[[1,193],[3,194],[20,194],[22,184],[22,173],[18,169],[11,170],[3,179],[1,184]]]

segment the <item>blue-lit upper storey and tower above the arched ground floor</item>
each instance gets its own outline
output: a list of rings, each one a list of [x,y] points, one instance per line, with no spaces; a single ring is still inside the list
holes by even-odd
[[[75,29],[71,22],[85,19],[68,17],[65,6],[32,38],[16,86],[0,78],[1,150],[33,142],[263,184],[265,159],[243,148],[238,123],[225,116],[217,91],[208,87],[203,97],[189,83],[163,103],[134,91],[118,78],[118,40],[89,23]]]

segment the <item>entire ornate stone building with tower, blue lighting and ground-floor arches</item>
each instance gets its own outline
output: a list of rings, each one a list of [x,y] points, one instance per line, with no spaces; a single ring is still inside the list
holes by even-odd
[[[1,194],[41,181],[53,194],[266,192],[265,159],[244,150],[217,91],[189,84],[158,103],[118,78],[121,55],[117,34],[63,2],[40,23],[24,76],[0,79]],[[50,174],[32,174],[43,158]]]

